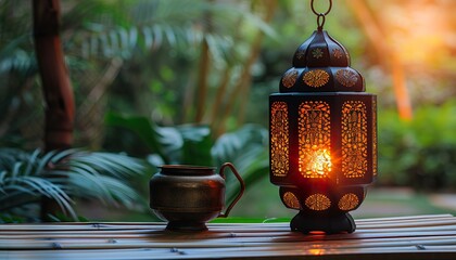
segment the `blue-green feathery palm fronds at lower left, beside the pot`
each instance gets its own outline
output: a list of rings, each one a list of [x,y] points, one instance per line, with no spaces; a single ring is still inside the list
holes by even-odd
[[[126,183],[143,172],[138,159],[122,154],[0,148],[0,221],[39,220],[33,209],[39,209],[41,196],[54,200],[71,220],[79,219],[74,198],[129,209],[143,207],[144,200]]]

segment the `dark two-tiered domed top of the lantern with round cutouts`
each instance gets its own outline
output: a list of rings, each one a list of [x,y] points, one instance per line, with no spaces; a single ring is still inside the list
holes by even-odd
[[[280,92],[363,92],[363,76],[350,67],[346,49],[318,29],[293,55],[293,67],[280,80]]]

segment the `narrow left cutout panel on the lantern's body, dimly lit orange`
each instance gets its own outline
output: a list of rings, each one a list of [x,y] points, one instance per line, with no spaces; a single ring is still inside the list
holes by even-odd
[[[270,118],[270,161],[274,176],[286,177],[289,171],[289,120],[284,102],[271,105]]]

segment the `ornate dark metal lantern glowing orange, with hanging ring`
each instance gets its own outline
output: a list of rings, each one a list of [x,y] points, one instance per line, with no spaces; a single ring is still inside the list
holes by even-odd
[[[282,203],[300,210],[292,231],[355,231],[347,213],[377,177],[377,98],[365,92],[346,49],[318,28],[269,96],[270,181]],[[314,1],[312,1],[313,5]]]

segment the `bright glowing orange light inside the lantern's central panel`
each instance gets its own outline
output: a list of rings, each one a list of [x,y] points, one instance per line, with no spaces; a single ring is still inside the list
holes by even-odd
[[[311,150],[300,158],[300,172],[307,178],[322,178],[331,171],[331,155],[327,148],[312,145]]]

